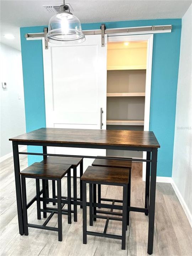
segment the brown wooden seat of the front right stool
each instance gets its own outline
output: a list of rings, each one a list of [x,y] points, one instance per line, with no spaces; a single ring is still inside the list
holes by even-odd
[[[129,169],[88,166],[81,180],[128,184]]]

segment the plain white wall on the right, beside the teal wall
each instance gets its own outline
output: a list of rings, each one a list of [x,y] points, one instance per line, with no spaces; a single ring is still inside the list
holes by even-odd
[[[182,18],[172,180],[192,226],[192,5]]]

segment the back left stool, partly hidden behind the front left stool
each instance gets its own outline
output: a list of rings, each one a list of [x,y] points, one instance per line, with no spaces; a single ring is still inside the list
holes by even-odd
[[[51,164],[69,164],[72,165],[73,169],[73,197],[72,201],[76,202],[80,200],[82,202],[82,182],[80,181],[80,198],[77,198],[77,167],[80,164],[80,177],[83,174],[83,158],[65,157],[65,156],[48,156],[47,159],[43,160],[44,163]],[[55,193],[55,181],[52,181],[52,196],[57,198]],[[66,197],[62,197],[66,199]],[[53,203],[55,205],[55,202]],[[82,207],[81,207],[82,208]],[[74,210],[74,222],[77,222],[77,204],[73,204]]]

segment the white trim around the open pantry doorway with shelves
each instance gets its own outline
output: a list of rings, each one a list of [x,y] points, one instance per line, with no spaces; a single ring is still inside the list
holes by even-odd
[[[151,73],[153,58],[153,34],[139,35],[119,35],[107,37],[108,42],[119,41],[147,41],[147,60],[146,60],[146,81],[145,81],[145,112],[144,112],[144,131],[149,130],[150,121],[150,100],[151,100]],[[143,159],[146,159],[146,152],[143,152]],[[146,176],[146,162],[143,162],[143,181]]]

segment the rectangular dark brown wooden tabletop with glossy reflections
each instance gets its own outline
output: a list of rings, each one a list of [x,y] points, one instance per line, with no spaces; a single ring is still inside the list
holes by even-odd
[[[153,132],[133,130],[40,128],[9,140],[17,142],[160,148]]]

